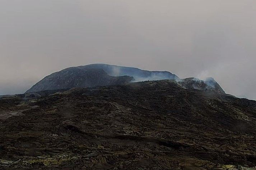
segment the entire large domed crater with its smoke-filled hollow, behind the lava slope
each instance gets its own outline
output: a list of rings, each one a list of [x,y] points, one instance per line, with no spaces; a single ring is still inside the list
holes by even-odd
[[[131,81],[179,79],[178,76],[168,71],[146,71],[134,67],[123,67],[108,64],[90,64],[85,66],[70,67],[55,72],[27,92],[43,90],[70,89],[73,87],[93,87],[117,85]]]

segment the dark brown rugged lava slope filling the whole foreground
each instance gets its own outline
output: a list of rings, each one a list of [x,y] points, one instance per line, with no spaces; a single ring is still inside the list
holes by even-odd
[[[254,169],[256,101],[190,81],[2,97],[0,169]]]

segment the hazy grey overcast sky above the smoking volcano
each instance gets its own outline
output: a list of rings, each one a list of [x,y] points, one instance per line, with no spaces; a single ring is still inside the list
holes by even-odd
[[[256,100],[255,0],[0,0],[0,95],[107,63],[214,77]]]

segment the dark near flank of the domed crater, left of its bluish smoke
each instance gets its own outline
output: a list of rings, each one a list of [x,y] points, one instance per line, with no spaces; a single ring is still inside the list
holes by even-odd
[[[134,79],[130,76],[110,76],[103,69],[70,67],[45,77],[26,91],[26,93],[43,90],[70,89],[73,87],[117,85],[132,80]]]

